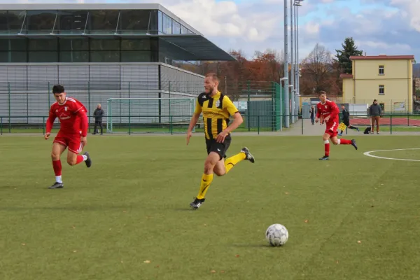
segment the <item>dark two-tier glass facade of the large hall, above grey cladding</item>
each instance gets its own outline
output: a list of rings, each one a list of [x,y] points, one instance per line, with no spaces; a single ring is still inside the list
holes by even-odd
[[[179,57],[170,45],[162,48],[162,40],[146,34],[193,31],[161,10],[0,10],[0,63],[168,62]]]

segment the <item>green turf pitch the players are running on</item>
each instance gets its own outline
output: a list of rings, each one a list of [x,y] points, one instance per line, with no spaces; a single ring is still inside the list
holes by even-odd
[[[51,141],[0,139],[0,279],[417,279],[420,162],[365,151],[420,147],[418,137],[233,136],[240,162],[197,211],[204,139],[90,137],[93,165],[63,162]],[[374,153],[419,159],[420,150]],[[286,225],[286,246],[265,230]]]

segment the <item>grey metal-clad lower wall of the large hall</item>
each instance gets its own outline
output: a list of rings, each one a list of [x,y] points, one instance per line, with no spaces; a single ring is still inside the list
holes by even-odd
[[[0,116],[8,117],[10,107],[10,116],[22,116],[11,118],[12,123],[43,123],[41,117],[28,116],[48,116],[50,104],[55,102],[51,89],[56,83],[64,85],[69,96],[79,99],[93,113],[98,103],[107,111],[109,98],[196,97],[202,91],[203,81],[204,76],[160,63],[0,64]],[[141,107],[136,103],[132,109],[133,106]],[[183,115],[190,114],[189,107],[184,107]],[[128,114],[127,106],[121,104],[118,108],[113,108],[114,116]],[[158,114],[158,109],[148,106],[148,111],[133,109],[130,113],[152,112]],[[172,115],[175,113],[171,111]],[[3,123],[8,123],[8,118],[3,118]]]

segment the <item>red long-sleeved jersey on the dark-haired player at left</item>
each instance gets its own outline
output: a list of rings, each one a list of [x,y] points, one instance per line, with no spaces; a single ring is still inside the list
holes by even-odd
[[[66,97],[64,104],[55,102],[50,107],[50,114],[46,124],[46,132],[50,133],[55,118],[59,119],[59,132],[64,135],[87,136],[86,107],[77,99]]]

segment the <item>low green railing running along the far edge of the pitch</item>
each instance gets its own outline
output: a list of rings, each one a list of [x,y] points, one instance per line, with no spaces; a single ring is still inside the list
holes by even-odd
[[[152,119],[161,117],[162,119],[167,118],[166,122],[158,123],[153,122]],[[151,115],[122,115],[113,116],[115,120],[121,120],[123,118],[126,121],[113,122],[113,130],[106,130],[106,123],[104,125],[104,132],[109,133],[169,133],[179,134],[185,133],[188,130],[189,120],[191,116],[151,116]],[[255,132],[260,134],[261,132],[292,132],[293,135],[319,135],[323,133],[323,128],[314,127],[311,125],[310,119],[302,118],[301,115],[245,115],[243,114],[244,123],[242,123],[235,133],[240,132]],[[16,122],[13,119],[23,119],[22,123]],[[37,118],[38,122],[34,122],[33,119]],[[48,116],[0,116],[0,135],[3,133],[39,133],[45,134],[45,123]],[[89,116],[91,120],[94,120],[94,116]],[[283,124],[286,118],[297,118],[298,121],[289,128],[284,128]],[[32,121],[29,122],[29,120]],[[103,116],[103,120],[106,120],[106,116]],[[12,121],[13,120],[13,121]],[[135,120],[135,121],[133,121]],[[358,127],[360,133],[363,133],[367,127],[371,126],[370,116],[357,116],[351,118],[351,125]],[[315,125],[320,125],[319,123]],[[325,127],[325,126],[324,126]],[[418,113],[387,113],[383,114],[379,119],[379,127],[381,132],[389,132],[393,134],[395,132],[420,132],[420,114]],[[59,124],[56,121],[52,132],[57,132]],[[94,122],[89,123],[89,132],[92,132],[94,128]],[[199,120],[195,126],[195,132],[204,132],[204,125],[202,120]],[[346,129],[348,133],[349,128]]]

